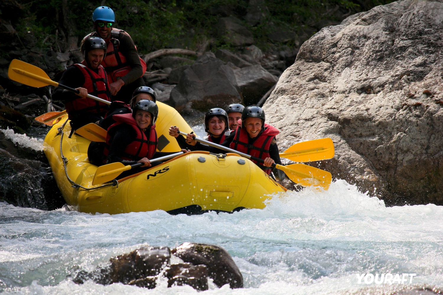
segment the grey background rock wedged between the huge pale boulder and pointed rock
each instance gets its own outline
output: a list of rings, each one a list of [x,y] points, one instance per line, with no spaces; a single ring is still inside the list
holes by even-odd
[[[234,74],[245,105],[257,103],[278,81],[276,76],[263,69],[261,65],[237,69],[234,70]]]

